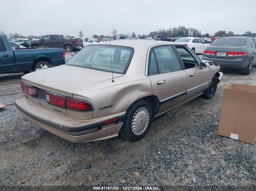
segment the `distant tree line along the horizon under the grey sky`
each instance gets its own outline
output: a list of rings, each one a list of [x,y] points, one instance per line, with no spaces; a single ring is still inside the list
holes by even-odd
[[[25,36],[23,36],[20,33],[9,33],[8,35],[3,31],[0,30],[0,34],[4,34],[8,37],[11,38],[26,38]],[[252,33],[251,31],[246,31],[243,34],[234,34],[234,32],[232,31],[225,31],[225,30],[219,30],[217,32],[214,33],[214,35],[209,35],[209,33],[206,34],[201,34],[201,30],[198,30],[196,28],[193,27],[185,27],[185,26],[178,26],[178,27],[172,27],[172,28],[168,28],[168,29],[164,29],[164,28],[160,28],[156,31],[151,31],[148,34],[135,34],[134,32],[129,32],[129,33],[119,33],[117,32],[117,29],[113,29],[111,31],[112,37],[116,37],[119,35],[124,35],[127,37],[154,37],[155,35],[166,35],[167,37],[178,37],[178,36],[191,36],[191,37],[205,37],[205,36],[212,36],[212,37],[233,37],[233,36],[247,36],[247,37],[256,37],[256,33]],[[44,35],[41,36],[35,36],[35,35],[29,35],[27,37],[31,37],[31,38],[35,38],[35,37],[40,37],[42,38]],[[84,34],[82,32],[82,30],[80,30],[78,32],[78,37],[83,37]],[[109,37],[109,35],[97,35],[94,34],[93,35],[94,38],[107,38]],[[69,36],[69,35],[65,35],[65,38],[74,38],[74,36]]]

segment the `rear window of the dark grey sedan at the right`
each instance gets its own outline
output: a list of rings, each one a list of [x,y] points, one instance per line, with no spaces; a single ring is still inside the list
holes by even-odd
[[[246,39],[244,38],[220,38],[215,40],[211,46],[245,46]]]

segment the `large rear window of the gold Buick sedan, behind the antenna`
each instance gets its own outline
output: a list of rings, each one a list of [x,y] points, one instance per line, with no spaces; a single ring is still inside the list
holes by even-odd
[[[68,60],[66,65],[124,74],[132,55],[133,49],[129,47],[89,45]]]

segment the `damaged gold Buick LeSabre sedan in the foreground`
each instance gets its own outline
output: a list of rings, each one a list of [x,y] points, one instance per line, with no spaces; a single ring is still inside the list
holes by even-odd
[[[65,65],[22,76],[19,112],[71,142],[143,138],[152,120],[211,99],[223,74],[184,44],[123,40],[85,46]]]

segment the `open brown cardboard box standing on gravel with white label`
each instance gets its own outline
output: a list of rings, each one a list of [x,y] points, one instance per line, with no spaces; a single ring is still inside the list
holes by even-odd
[[[256,86],[229,84],[224,88],[218,135],[254,144]]]

